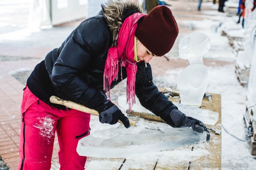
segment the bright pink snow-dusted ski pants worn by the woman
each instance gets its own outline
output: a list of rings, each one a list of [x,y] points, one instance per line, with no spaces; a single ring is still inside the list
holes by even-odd
[[[78,140],[89,135],[89,122],[90,114],[56,109],[26,87],[21,104],[18,170],[51,168],[55,131],[60,145],[60,170],[84,170],[86,157],[79,156],[76,147]]]

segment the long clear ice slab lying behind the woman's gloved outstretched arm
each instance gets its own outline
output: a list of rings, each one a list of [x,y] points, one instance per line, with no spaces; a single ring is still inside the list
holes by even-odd
[[[136,103],[132,106],[132,110],[137,112],[152,113],[151,111],[141,106],[141,104],[139,103],[139,99],[137,97],[135,98],[135,100]],[[181,112],[185,113],[186,116],[190,116],[195,119],[201,120],[204,124],[214,125],[218,121],[219,113],[217,112],[200,109],[192,106],[186,106],[184,104],[175,102],[173,102],[173,104],[175,104],[175,106],[177,106]],[[126,102],[125,95],[118,97],[118,105],[125,110],[129,109],[129,105]]]

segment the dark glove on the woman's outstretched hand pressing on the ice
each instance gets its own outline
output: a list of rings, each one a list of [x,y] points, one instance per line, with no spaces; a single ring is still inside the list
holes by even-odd
[[[192,130],[203,133],[204,131],[207,134],[206,140],[210,139],[210,133],[207,130],[207,127],[201,122],[192,117],[186,116],[178,109],[173,109],[170,113],[170,116],[167,118],[166,123],[172,127],[191,127]]]

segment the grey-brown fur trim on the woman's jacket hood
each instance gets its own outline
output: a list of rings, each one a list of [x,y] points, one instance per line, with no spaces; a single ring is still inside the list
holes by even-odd
[[[103,16],[108,22],[108,26],[113,35],[112,46],[117,45],[118,32],[122,25],[122,15],[125,10],[134,10],[143,13],[139,2],[134,3],[132,0],[108,0],[101,4]]]

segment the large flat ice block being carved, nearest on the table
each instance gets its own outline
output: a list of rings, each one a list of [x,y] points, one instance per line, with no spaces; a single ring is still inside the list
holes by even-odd
[[[206,141],[206,133],[166,126],[164,133],[131,127],[100,130],[79,140],[76,151],[80,156],[126,158],[133,154],[173,149]]]

